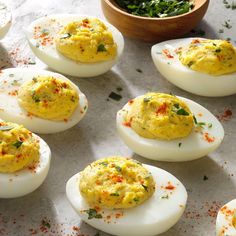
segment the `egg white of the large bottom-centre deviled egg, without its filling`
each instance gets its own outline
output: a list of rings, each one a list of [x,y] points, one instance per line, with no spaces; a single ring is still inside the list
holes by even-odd
[[[143,165],[156,182],[154,194],[141,205],[121,210],[102,209],[102,219],[88,219],[84,212],[90,208],[79,191],[80,174],[71,177],[66,184],[67,197],[79,214],[88,224],[106,233],[119,236],[152,236],[163,233],[172,227],[184,212],[187,192],[183,184],[173,175],[160,168]],[[171,183],[174,190],[165,187]],[[116,218],[116,214],[123,214]],[[111,216],[107,220],[107,216]]]

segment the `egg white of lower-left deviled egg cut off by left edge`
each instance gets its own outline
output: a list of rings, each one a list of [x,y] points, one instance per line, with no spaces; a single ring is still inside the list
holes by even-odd
[[[33,170],[25,168],[14,173],[0,173],[0,198],[16,198],[29,194],[37,189],[47,177],[51,151],[43,139],[38,136],[36,138],[40,145],[39,163]]]

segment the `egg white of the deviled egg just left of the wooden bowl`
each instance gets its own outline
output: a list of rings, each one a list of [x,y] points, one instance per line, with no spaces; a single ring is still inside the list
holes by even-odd
[[[113,60],[97,63],[79,63],[66,58],[56,49],[54,42],[56,34],[69,22],[77,21],[83,18],[93,19],[94,17],[76,14],[56,14],[33,21],[26,29],[26,37],[32,51],[50,68],[63,74],[79,77],[93,77],[104,74],[117,62],[124,49],[124,38],[122,34],[111,24],[103,21],[112,32],[114,41],[117,43],[117,56]],[[35,27],[46,29],[48,32],[48,37],[53,39],[53,43],[42,46],[38,39],[34,39]]]

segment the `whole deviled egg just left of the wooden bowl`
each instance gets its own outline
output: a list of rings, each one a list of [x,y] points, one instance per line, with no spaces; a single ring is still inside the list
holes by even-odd
[[[92,77],[117,62],[124,48],[122,34],[91,16],[57,14],[32,22],[26,36],[35,55],[63,74]]]

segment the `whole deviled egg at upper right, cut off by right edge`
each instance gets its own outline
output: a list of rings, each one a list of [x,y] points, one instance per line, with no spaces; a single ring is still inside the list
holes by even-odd
[[[151,54],[159,72],[179,88],[207,97],[236,93],[236,48],[228,41],[169,40],[154,45]]]

